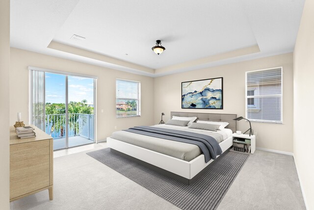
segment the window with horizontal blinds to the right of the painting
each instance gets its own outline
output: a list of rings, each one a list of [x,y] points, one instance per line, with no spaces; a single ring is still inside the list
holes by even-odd
[[[246,72],[246,118],[283,122],[282,67]]]

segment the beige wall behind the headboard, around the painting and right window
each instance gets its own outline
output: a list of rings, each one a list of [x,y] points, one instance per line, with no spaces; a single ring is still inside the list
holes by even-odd
[[[171,111],[225,113],[245,117],[245,72],[278,66],[283,66],[284,71],[284,123],[252,122],[252,128],[258,133],[257,147],[293,152],[293,70],[291,53],[155,78],[155,123],[159,122],[162,112],[166,115],[163,119],[169,120]],[[223,77],[223,110],[181,109],[181,82],[215,77]],[[240,120],[237,126],[238,130],[245,131],[248,129],[249,123]]]

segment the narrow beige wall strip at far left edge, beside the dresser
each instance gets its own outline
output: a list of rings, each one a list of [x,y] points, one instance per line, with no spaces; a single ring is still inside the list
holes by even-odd
[[[10,0],[0,1],[0,209],[9,209]]]

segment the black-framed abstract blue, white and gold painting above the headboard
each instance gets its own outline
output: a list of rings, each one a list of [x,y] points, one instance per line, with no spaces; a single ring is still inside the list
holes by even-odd
[[[222,109],[222,77],[183,82],[183,109]]]

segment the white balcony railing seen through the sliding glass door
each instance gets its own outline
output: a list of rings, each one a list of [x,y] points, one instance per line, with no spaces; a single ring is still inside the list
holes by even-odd
[[[69,136],[81,136],[94,140],[94,115],[69,114]],[[46,133],[52,138],[66,136],[65,114],[46,115]]]

